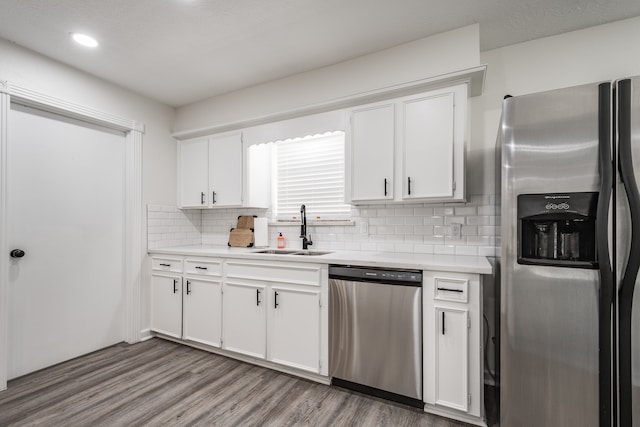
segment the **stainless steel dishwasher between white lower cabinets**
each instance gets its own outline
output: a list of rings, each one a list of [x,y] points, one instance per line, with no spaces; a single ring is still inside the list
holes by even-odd
[[[422,401],[422,272],[329,266],[332,384]]]

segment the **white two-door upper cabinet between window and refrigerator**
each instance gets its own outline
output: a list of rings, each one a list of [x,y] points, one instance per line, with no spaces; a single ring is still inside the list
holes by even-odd
[[[464,201],[467,85],[351,112],[351,202]]]

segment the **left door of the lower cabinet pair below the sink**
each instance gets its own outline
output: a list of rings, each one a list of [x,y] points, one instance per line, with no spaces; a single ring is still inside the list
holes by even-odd
[[[223,285],[222,348],[266,357],[265,286]]]

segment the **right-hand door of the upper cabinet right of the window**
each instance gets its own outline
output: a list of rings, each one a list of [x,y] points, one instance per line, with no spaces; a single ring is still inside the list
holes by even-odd
[[[404,199],[453,197],[454,94],[402,103]]]

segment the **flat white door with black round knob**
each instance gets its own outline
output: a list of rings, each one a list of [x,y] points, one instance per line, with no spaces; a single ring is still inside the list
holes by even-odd
[[[122,341],[125,136],[12,105],[8,378]],[[8,256],[5,254],[4,256]]]

